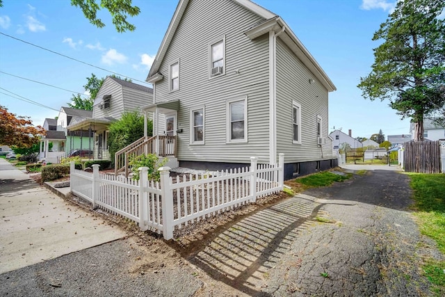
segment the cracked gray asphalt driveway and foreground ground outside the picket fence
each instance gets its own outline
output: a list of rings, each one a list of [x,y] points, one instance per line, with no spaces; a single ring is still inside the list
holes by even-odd
[[[3,273],[0,295],[431,296],[423,257],[444,255],[406,210],[411,194],[406,175],[370,171],[173,241],[135,232]]]

